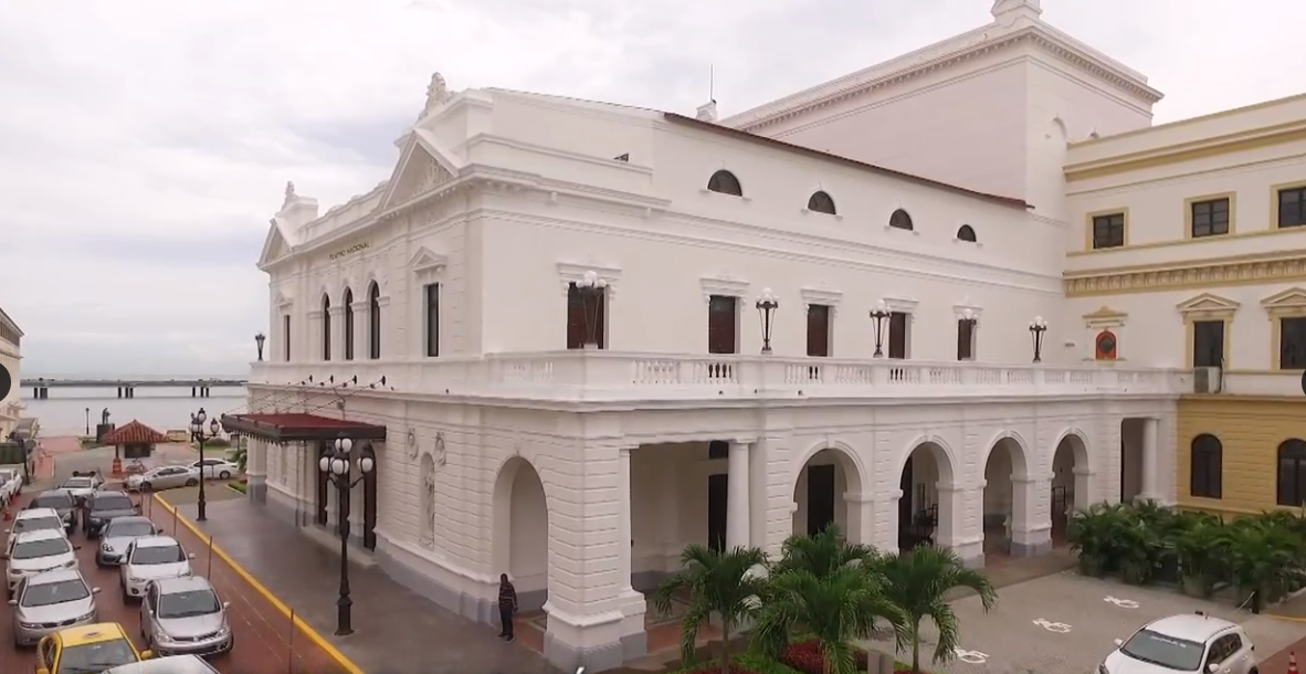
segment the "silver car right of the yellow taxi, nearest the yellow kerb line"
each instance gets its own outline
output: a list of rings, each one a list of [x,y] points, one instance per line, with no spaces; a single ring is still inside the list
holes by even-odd
[[[141,637],[161,656],[214,656],[231,650],[227,607],[200,576],[155,580],[141,600]]]

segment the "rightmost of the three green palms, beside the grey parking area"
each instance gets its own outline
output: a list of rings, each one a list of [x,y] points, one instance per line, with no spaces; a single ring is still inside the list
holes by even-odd
[[[980,594],[983,610],[993,609],[998,593],[989,579],[961,563],[952,550],[921,546],[910,553],[891,555],[880,566],[885,577],[884,594],[905,615],[905,628],[899,631],[899,648],[910,645],[912,673],[921,673],[921,623],[929,618],[939,631],[934,648],[935,662],[953,657],[961,626],[947,601],[948,590],[970,588]]]

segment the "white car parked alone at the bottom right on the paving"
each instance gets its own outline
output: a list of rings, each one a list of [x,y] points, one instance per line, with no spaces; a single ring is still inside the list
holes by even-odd
[[[1097,666],[1097,674],[1256,674],[1256,656],[1242,626],[1198,611],[1153,620]]]

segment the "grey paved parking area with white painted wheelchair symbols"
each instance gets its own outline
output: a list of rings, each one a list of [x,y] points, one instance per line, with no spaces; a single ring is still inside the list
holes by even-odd
[[[946,665],[926,662],[934,653],[932,626],[926,627],[929,645],[921,649],[923,669],[938,674],[1093,674],[1115,648],[1113,640],[1127,639],[1149,620],[1196,610],[1242,623],[1262,660],[1301,639],[1306,627],[1164,588],[1135,588],[1074,571],[998,590],[998,605],[989,614],[978,597],[952,606],[961,622],[961,657]],[[868,645],[893,650],[889,641]],[[908,657],[900,654],[899,660]]]

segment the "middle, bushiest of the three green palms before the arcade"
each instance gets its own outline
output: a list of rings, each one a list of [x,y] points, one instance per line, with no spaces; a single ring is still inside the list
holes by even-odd
[[[844,564],[818,575],[789,568],[771,576],[752,641],[778,657],[789,635],[808,634],[820,652],[823,674],[855,674],[853,640],[868,637],[878,619],[896,628],[905,623],[902,610],[885,598],[872,570]]]

